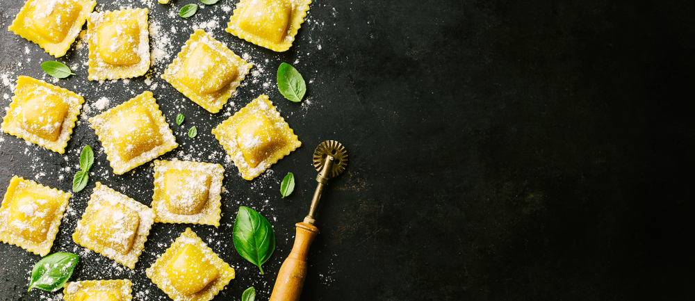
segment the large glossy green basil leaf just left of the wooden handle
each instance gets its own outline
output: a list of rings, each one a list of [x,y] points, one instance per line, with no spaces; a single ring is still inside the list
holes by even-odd
[[[234,247],[241,257],[258,266],[263,275],[261,265],[275,251],[275,231],[261,213],[240,206],[234,221]]]

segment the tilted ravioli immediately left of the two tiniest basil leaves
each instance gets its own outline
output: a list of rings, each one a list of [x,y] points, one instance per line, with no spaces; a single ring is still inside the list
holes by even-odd
[[[115,174],[123,174],[178,147],[152,92],[89,119]]]

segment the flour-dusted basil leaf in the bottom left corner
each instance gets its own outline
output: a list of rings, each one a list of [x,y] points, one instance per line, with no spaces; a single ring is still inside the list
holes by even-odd
[[[58,291],[59,288],[63,288],[67,279],[70,279],[79,260],[79,256],[65,252],[44,257],[34,265],[34,269],[31,271],[29,289],[26,291],[31,291],[31,288]]]

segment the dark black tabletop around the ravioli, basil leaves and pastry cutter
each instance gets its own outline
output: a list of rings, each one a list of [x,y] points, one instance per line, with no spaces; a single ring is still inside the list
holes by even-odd
[[[20,2],[3,1],[3,28]],[[99,10],[149,6],[150,19],[161,22],[195,3],[98,2]],[[224,4],[236,1],[216,6]],[[179,27],[172,49],[191,24],[219,16],[215,38],[262,67],[259,81],[247,79],[222,112],[268,94],[303,145],[272,172],[241,179],[210,133],[227,116],[204,111],[158,78],[170,60],[153,67],[152,90],[180,144],[162,158],[193,154],[227,170],[222,225],[193,227],[236,269],[215,300],[240,300],[248,286],[257,300],[269,298],[316,186],[311,154],[327,139],[347,147],[350,165],[322,198],[302,300],[693,298],[693,1],[317,0],[285,53],[225,33],[229,15],[213,6],[170,18]],[[10,81],[44,78],[38,65],[53,58],[8,31],[0,38]],[[59,60],[84,63],[85,49]],[[277,92],[281,62],[307,80],[304,104]],[[106,95],[109,107],[148,90],[142,76],[99,84],[87,81],[86,69],[56,84],[81,93],[85,104]],[[183,127],[174,123],[179,111]],[[185,134],[192,125],[195,139]],[[81,254],[72,280],[129,278],[134,300],[167,300],[145,268],[191,225],[155,224],[133,271],[87,254],[70,237],[96,181],[149,205],[152,166],[113,174],[87,122],[76,126],[65,155],[1,137],[1,193],[13,175],[40,172],[38,182],[71,190],[79,150],[95,147],[90,183],[74,193],[53,252]],[[72,171],[61,171],[67,166]],[[281,199],[287,172],[297,188]],[[240,205],[275,227],[265,275],[234,250]],[[40,257],[4,243],[0,252],[4,300],[59,296],[26,293]]]

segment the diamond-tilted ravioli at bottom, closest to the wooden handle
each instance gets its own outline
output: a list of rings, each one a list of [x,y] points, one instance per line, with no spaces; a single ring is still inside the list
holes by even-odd
[[[208,301],[231,279],[234,268],[186,228],[152,266],[147,277],[176,301]]]

